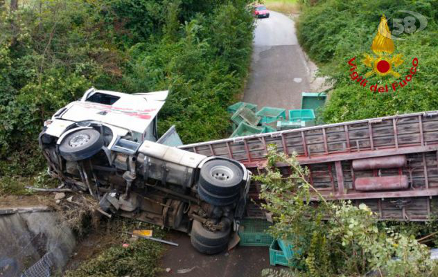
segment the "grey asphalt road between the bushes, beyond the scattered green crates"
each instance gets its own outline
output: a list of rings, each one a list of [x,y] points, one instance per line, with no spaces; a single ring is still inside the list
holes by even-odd
[[[269,18],[258,19],[243,101],[254,103],[259,109],[301,109],[301,92],[310,91],[310,80],[294,21],[272,11]]]

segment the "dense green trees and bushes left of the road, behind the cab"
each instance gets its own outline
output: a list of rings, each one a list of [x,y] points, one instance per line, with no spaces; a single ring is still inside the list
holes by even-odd
[[[44,120],[92,86],[170,89],[159,132],[176,125],[184,143],[222,138],[253,17],[246,0],[12,0],[0,1],[0,30],[1,195],[33,184]]]

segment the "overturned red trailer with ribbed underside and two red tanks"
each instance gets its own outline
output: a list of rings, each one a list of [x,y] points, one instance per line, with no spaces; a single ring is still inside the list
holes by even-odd
[[[403,114],[222,139],[179,148],[266,164],[267,146],[297,153],[326,199],[365,203],[380,218],[425,221],[438,215],[438,111]],[[288,175],[285,165],[279,165]]]

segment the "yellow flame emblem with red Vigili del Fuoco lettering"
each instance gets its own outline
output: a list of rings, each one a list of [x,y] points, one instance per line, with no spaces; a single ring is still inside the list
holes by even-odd
[[[365,73],[365,77],[360,75],[356,71],[358,67],[355,63],[356,57],[352,57],[348,61],[351,71],[349,74],[351,80],[355,81],[362,87],[367,87],[367,78],[372,75],[380,75],[383,78],[385,78],[387,75],[390,75],[395,78],[400,78],[401,75],[398,73],[397,69],[404,62],[402,60],[403,56],[401,54],[392,55],[394,50],[395,46],[393,40],[391,39],[391,32],[388,28],[387,19],[385,15],[383,15],[380,18],[380,24],[378,24],[376,37],[374,37],[373,43],[371,44],[371,51],[373,51],[374,54],[365,54],[365,58],[361,61],[363,64],[365,64],[365,66],[367,66],[367,68],[369,68],[369,71]],[[418,58],[415,57],[412,60],[410,73],[405,75],[404,78],[399,79],[397,82],[393,82],[392,84],[368,84],[369,89],[376,93],[385,93],[401,89],[405,87],[405,85],[408,84],[408,82],[410,82],[417,73],[417,66]]]

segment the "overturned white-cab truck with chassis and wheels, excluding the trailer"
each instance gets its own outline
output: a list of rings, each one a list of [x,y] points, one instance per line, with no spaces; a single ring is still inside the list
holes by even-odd
[[[167,93],[89,89],[44,123],[40,147],[51,177],[88,191],[104,212],[190,233],[195,249],[218,253],[243,217],[251,172],[156,143]]]

